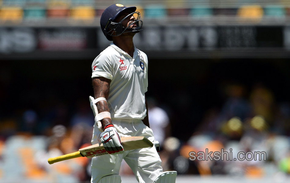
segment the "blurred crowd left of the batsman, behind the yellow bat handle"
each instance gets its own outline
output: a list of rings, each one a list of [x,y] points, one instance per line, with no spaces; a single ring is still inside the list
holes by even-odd
[[[90,180],[87,158],[52,165],[47,162],[50,157],[91,145],[94,116],[87,102],[77,102],[72,116],[62,103],[44,116],[36,111],[26,109],[20,116],[0,120],[0,180],[17,182],[21,177],[36,182]]]

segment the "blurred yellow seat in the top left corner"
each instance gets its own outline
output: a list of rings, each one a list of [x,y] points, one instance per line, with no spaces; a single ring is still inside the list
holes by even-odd
[[[0,22],[12,21],[20,23],[23,19],[23,9],[20,7],[3,7],[0,9]]]

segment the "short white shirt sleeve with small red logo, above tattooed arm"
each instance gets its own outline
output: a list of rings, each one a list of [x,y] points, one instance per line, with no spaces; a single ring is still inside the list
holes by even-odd
[[[100,55],[95,58],[92,63],[92,78],[93,77],[113,79],[110,55],[101,52]]]

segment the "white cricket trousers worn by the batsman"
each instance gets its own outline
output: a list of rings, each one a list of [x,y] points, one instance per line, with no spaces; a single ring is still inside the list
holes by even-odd
[[[153,131],[143,124],[140,119],[117,119],[112,118],[112,123],[117,131],[123,135],[143,136],[154,142]],[[98,128],[94,127],[92,143],[99,143],[97,137],[100,136]],[[126,161],[134,172],[139,183],[153,183],[153,181],[163,172],[161,159],[155,146],[151,148],[135,149],[125,151],[123,154],[103,155],[92,158],[91,182],[98,181],[109,175],[118,175],[122,159]]]

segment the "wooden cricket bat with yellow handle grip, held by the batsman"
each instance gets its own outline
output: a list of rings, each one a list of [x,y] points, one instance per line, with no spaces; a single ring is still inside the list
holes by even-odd
[[[129,151],[133,149],[141,149],[146,147],[153,147],[153,143],[145,137],[122,137],[121,142],[124,148],[124,151]],[[77,157],[87,157],[92,158],[95,156],[102,156],[105,154],[109,154],[102,143],[90,145],[88,147],[79,149],[77,152],[73,152],[70,154],[65,154],[62,156],[57,156],[54,158],[49,158],[48,163],[53,164],[63,160],[69,160]]]

